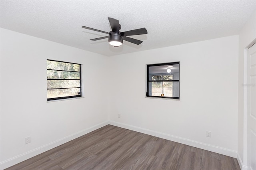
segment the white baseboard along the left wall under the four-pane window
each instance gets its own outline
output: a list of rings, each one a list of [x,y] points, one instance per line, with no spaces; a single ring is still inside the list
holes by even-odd
[[[56,140],[54,142],[51,142],[49,144],[46,144],[46,145],[41,146],[39,148],[36,148],[34,150],[30,150],[30,151],[28,151],[26,153],[20,154],[18,156],[15,156],[13,158],[8,159],[8,160],[4,160],[4,161],[0,162],[0,170],[6,169],[6,168],[8,168],[10,166],[18,164],[18,163],[20,163],[20,162],[22,162],[24,160],[32,158],[33,156],[36,156],[36,155],[41,154],[43,152],[46,152],[47,150],[50,150],[50,149],[55,148],[57,146],[60,146],[61,144],[64,144],[64,143],[66,143],[66,142],[68,142],[70,140],[78,138],[78,137],[80,137],[80,136],[82,136],[84,134],[92,132],[92,131],[94,131],[94,130],[96,130],[98,128],[104,127],[106,125],[108,125],[108,121],[100,123],[100,124],[97,124],[97,125],[94,125],[94,126],[89,127],[89,128],[86,128],[84,130],[81,130],[79,132],[76,132],[74,134],[66,136],[64,138],[61,138],[59,140]]]

